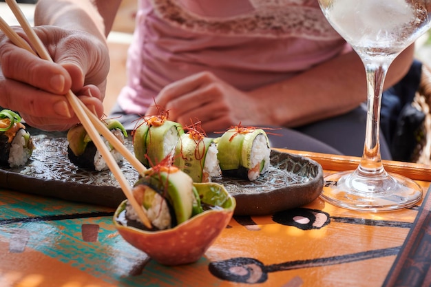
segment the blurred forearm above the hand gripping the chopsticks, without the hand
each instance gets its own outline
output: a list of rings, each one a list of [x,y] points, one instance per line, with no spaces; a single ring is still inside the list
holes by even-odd
[[[121,0],[39,0],[34,24],[82,30],[105,39],[120,3]]]

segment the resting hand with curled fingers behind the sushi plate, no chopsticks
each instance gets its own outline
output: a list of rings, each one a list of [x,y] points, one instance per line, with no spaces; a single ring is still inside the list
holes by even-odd
[[[235,89],[211,72],[200,72],[162,89],[147,115],[156,115],[165,109],[169,120],[184,126],[200,121],[206,132],[224,131],[239,123],[271,125],[261,99]]]

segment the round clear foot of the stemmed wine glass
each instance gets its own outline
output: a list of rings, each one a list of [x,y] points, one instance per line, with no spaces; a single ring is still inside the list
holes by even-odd
[[[393,173],[372,178],[344,171],[325,177],[321,198],[345,209],[392,211],[419,202],[422,189],[413,180]]]

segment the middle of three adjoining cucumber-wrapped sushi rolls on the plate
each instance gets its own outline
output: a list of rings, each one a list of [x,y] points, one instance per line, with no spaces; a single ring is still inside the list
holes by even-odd
[[[222,173],[217,153],[217,145],[213,138],[189,132],[182,134],[178,141],[174,165],[187,173],[193,182],[211,182],[211,178]]]

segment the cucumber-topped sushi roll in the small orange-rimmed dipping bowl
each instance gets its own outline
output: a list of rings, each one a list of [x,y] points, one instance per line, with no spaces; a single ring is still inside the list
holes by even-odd
[[[159,164],[145,171],[132,192],[136,201],[142,204],[154,231],[172,228],[203,211],[193,180],[169,164]],[[126,217],[140,222],[129,202]]]

